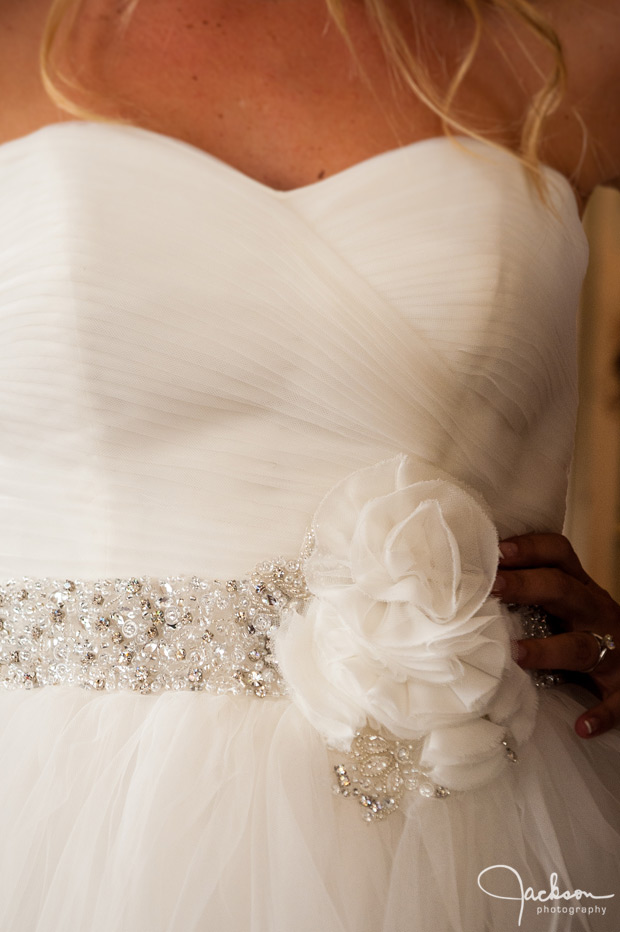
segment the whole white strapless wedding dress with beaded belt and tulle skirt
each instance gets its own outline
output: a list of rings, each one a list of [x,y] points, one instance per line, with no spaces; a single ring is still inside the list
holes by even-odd
[[[141,129],[66,123],[0,149],[3,932],[507,932],[518,877],[538,895],[552,873],[592,896],[528,900],[522,929],[620,929],[620,735],[575,735],[576,688],[502,660],[520,698],[476,699],[468,721],[501,738],[518,707],[516,762],[494,738],[470,780],[466,741],[465,788],[413,781],[366,821],[265,633],[278,578],[303,590],[324,497],[337,548],[358,493],[354,517],[389,497],[375,476],[436,471],[500,538],[561,530],[587,246],[568,183],[545,177],[551,209],[510,155],[446,139],[285,193]],[[432,602],[429,527],[412,547]],[[284,670],[312,691],[332,655],[291,644]]]

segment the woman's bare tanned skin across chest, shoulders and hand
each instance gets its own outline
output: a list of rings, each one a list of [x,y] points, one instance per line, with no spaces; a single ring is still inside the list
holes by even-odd
[[[393,6],[400,15],[402,5]],[[620,0],[538,6],[558,31],[568,68],[541,156],[569,179],[581,210],[597,185],[620,190]],[[85,0],[71,56],[95,97],[78,95],[78,102],[189,142],[274,189],[302,187],[441,135],[433,112],[392,87],[356,0],[346,11],[368,80],[327,25],[324,0],[142,0],[122,40],[116,7],[116,0]],[[0,0],[0,143],[74,119],[49,100],[39,78],[48,9],[49,0]],[[416,0],[415,10],[429,38],[429,71],[441,84],[468,44],[469,16],[455,0]],[[516,148],[549,54],[516,21],[491,14],[486,27],[456,108],[483,135]],[[116,103],[103,103],[110,99]],[[519,642],[523,667],[587,670],[598,656],[588,631],[610,633],[620,644],[620,607],[587,576],[565,538],[529,534],[504,543],[517,549],[501,563],[498,597],[540,604],[565,629]],[[601,701],[575,724],[583,738],[620,721],[620,649],[588,683]]]

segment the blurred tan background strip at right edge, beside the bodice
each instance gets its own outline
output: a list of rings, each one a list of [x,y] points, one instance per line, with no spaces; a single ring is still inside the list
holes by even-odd
[[[588,573],[620,599],[620,194],[586,210],[590,265],[580,312],[580,393],[565,533]]]

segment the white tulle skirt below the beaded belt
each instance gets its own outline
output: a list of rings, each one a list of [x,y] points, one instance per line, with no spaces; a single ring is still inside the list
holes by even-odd
[[[287,699],[3,691],[0,929],[618,932],[620,733],[540,699],[501,777],[369,824]]]

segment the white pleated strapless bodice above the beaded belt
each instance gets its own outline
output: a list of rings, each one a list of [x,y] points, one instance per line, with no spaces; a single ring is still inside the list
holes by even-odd
[[[4,575],[241,573],[418,454],[559,530],[587,246],[565,179],[431,139],[275,192],[142,129],[0,149]]]

